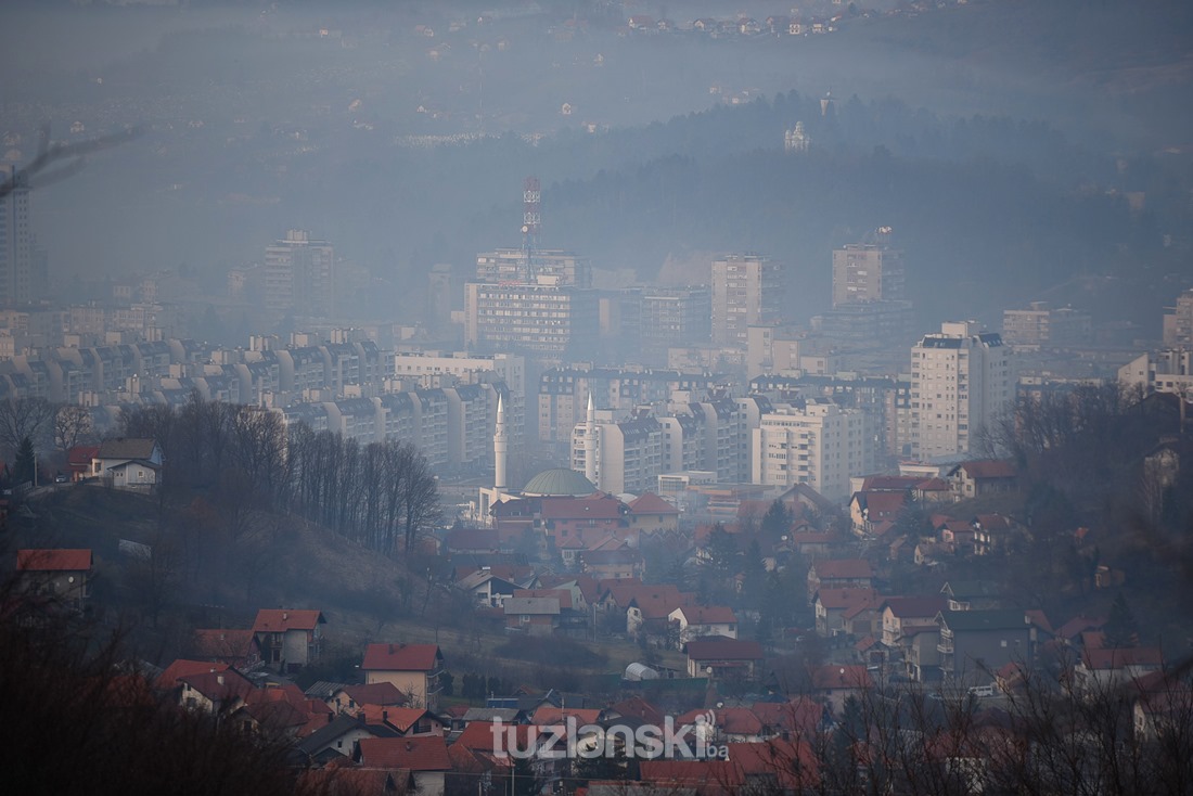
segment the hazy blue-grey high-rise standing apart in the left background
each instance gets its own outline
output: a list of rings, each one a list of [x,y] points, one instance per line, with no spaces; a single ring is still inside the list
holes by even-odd
[[[335,251],[304,229],[265,249],[265,309],[277,315],[335,313]]]

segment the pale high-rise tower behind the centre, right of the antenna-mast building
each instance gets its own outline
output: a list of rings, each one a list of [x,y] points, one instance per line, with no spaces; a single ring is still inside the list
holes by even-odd
[[[783,310],[781,266],[764,254],[712,261],[712,345],[746,347],[750,326],[777,323]]]

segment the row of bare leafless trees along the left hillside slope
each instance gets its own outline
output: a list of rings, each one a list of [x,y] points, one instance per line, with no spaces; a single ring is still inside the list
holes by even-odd
[[[206,493],[234,542],[254,512],[284,508],[378,553],[409,554],[440,520],[435,476],[407,440],[361,444],[197,393],[180,407],[123,411],[119,434],[156,439],[161,494]]]

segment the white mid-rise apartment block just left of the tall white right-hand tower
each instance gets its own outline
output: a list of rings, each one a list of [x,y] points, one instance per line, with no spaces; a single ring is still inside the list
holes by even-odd
[[[876,467],[873,426],[865,412],[827,399],[777,407],[753,431],[752,481],[784,488],[806,483],[826,498],[847,498],[849,476]]]

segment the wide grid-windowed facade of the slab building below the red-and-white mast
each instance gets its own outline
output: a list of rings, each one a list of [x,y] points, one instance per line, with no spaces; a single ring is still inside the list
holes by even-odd
[[[599,335],[594,290],[550,282],[482,283],[464,289],[470,351],[520,353],[539,362],[592,357]]]

